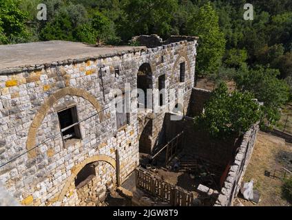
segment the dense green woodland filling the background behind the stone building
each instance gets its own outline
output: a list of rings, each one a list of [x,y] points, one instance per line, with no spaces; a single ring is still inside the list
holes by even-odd
[[[45,3],[47,21],[36,19]],[[292,91],[291,0],[0,0],[0,44],[66,40],[127,44],[138,34],[196,35],[196,76],[235,80],[264,102],[274,124]],[[287,90],[288,86],[290,90]]]

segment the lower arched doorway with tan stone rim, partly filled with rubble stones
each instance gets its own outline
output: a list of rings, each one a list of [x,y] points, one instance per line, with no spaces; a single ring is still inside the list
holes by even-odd
[[[107,155],[88,157],[71,172],[57,197],[61,206],[98,206],[116,188],[116,161]]]

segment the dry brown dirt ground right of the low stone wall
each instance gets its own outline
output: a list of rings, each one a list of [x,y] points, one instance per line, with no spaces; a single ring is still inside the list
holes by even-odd
[[[254,188],[260,191],[260,202],[253,204],[251,201],[238,198],[243,206],[291,206],[281,196],[281,179],[284,173],[276,172],[273,177],[275,164],[291,170],[292,144],[286,143],[280,137],[260,131],[244,175],[244,181],[253,179]],[[271,173],[270,177],[267,176],[267,172]],[[240,193],[238,197],[242,197]],[[236,199],[235,205],[238,205],[238,200]]]

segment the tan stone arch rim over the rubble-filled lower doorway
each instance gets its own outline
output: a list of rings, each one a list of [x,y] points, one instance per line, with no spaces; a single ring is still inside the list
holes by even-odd
[[[70,175],[70,177],[67,178],[67,181],[66,181],[65,185],[63,186],[59,196],[57,197],[58,199],[56,201],[60,201],[60,202],[63,201],[67,190],[69,190],[75,177],[77,176],[77,174],[80,172],[80,170],[84,166],[86,166],[87,164],[90,164],[92,162],[98,162],[98,161],[107,162],[110,165],[112,165],[112,167],[116,170],[116,160],[112,157],[107,156],[107,155],[95,155],[95,156],[89,157],[87,159],[84,159],[83,162],[81,162],[81,164],[77,164],[76,166],[74,166],[71,169],[72,174]]]

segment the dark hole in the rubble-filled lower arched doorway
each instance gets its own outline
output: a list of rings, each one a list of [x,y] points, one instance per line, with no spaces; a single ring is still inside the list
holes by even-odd
[[[82,188],[85,186],[93,177],[95,177],[95,166],[94,164],[85,165],[75,178],[76,188]]]

